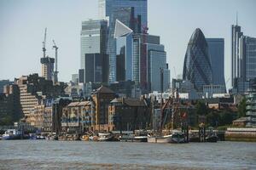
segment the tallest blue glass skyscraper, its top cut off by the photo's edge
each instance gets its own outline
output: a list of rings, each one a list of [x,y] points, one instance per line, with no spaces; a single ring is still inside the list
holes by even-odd
[[[116,81],[116,47],[115,47],[115,40],[113,37],[115,22],[116,20],[120,20],[121,22],[125,23],[125,20],[122,20],[122,9],[121,8],[131,8],[134,9],[134,16],[137,20],[141,22],[141,28],[147,27],[148,21],[148,0],[99,0],[98,1],[99,7],[99,16],[102,19],[108,18],[109,20],[109,35],[108,35],[108,54],[109,54],[109,64],[110,64],[110,71],[109,71],[109,81],[115,82]],[[121,13],[120,13],[121,12]],[[138,17],[137,17],[138,16]],[[136,23],[137,20],[134,20]],[[126,23],[125,23],[126,24]],[[128,25],[126,25],[128,26]],[[128,26],[130,27],[130,26]],[[130,27],[134,29],[135,33],[139,33],[142,29],[137,29],[136,27]]]

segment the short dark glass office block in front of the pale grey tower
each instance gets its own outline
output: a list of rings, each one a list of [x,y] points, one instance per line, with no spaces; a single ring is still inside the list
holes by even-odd
[[[108,82],[108,55],[85,54],[85,82]]]

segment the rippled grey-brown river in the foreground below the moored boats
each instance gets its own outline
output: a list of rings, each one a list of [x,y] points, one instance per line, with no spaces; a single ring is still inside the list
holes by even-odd
[[[0,169],[256,169],[256,143],[0,140]]]

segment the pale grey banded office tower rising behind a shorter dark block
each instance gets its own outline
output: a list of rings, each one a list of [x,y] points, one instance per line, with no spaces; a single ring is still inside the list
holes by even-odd
[[[86,20],[82,22],[81,69],[86,69],[85,54],[106,54],[107,35],[107,20]],[[84,74],[84,81],[85,77],[86,74]]]

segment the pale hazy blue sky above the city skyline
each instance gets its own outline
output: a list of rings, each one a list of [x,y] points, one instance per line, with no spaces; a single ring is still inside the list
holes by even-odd
[[[256,37],[254,0],[148,0],[148,33],[165,45],[171,78],[183,72],[187,44],[195,28],[205,37],[224,38],[224,71],[227,87],[231,74],[231,25]],[[0,80],[38,73],[47,27],[46,53],[59,47],[59,81],[69,82],[80,66],[82,20],[97,17],[97,0],[0,0]]]

